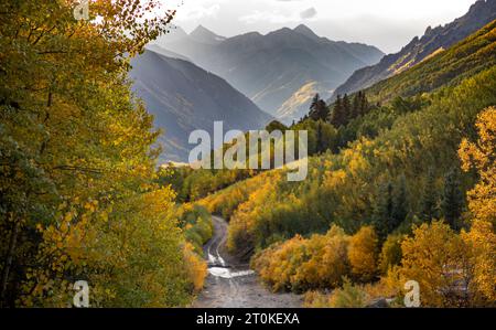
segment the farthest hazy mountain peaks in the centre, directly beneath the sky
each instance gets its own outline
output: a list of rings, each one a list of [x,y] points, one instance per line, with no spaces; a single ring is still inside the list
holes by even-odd
[[[330,97],[354,71],[384,56],[377,47],[331,41],[305,25],[234,38],[217,35],[204,26],[190,34],[176,28],[157,43],[224,77],[262,110],[285,121],[308,111],[309,103],[294,103],[301,99],[294,94],[304,86],[313,84],[323,97]]]

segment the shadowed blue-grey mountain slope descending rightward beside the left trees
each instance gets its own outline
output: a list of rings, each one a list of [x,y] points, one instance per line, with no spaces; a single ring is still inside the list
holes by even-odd
[[[215,120],[229,129],[259,129],[271,117],[223,78],[183,60],[145,51],[131,62],[133,89],[163,128],[163,159],[186,161],[195,129],[213,130]]]

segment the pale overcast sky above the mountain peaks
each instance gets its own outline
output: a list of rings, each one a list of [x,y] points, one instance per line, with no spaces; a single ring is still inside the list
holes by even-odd
[[[428,25],[463,15],[475,0],[161,0],[176,8],[174,24],[198,24],[233,36],[304,23],[332,40],[364,42],[397,52]],[[182,3],[182,4],[181,4]]]

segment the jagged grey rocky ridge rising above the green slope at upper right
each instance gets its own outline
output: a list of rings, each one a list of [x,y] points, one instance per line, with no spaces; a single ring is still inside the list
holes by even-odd
[[[401,73],[427,58],[448,50],[496,19],[496,0],[478,0],[468,12],[453,22],[416,36],[400,52],[385,56],[378,64],[356,71],[333,94],[352,94]]]

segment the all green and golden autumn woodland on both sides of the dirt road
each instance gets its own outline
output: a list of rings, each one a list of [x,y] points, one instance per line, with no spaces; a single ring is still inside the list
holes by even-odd
[[[211,213],[228,248],[309,307],[496,304],[496,22],[290,127],[309,178],[162,167],[129,57],[164,33],[157,0],[0,4],[2,307],[188,306],[207,274]],[[132,9],[132,10],[130,10]]]

